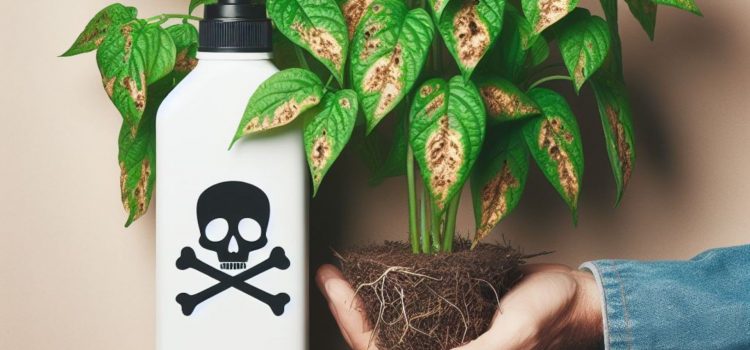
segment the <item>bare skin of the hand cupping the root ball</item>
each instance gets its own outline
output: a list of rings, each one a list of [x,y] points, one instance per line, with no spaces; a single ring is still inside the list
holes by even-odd
[[[557,264],[530,264],[501,300],[486,333],[454,350],[603,348],[602,301],[594,277]],[[341,272],[324,265],[316,282],[353,350],[377,350],[362,301]]]

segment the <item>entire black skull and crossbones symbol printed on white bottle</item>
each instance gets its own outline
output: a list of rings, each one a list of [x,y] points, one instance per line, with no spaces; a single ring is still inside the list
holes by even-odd
[[[234,288],[268,305],[274,315],[282,315],[291,300],[288,294],[270,294],[246,282],[273,268],[286,270],[290,265],[284,249],[276,247],[268,259],[246,269],[250,252],[268,244],[266,230],[271,210],[266,194],[248,183],[222,182],[203,191],[196,211],[200,226],[199,243],[217,254],[220,269],[198,259],[193,248],[182,249],[176,262],[178,269],[194,269],[218,281],[196,294],[177,295],[182,313],[189,316],[202,302]],[[231,275],[222,270],[244,271]]]

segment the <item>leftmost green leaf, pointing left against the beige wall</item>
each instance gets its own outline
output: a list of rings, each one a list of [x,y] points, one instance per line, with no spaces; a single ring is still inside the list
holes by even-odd
[[[62,57],[75,56],[96,50],[107,37],[111,28],[136,19],[138,10],[122,4],[112,4],[99,11],[89,21],[73,45],[62,54]]]

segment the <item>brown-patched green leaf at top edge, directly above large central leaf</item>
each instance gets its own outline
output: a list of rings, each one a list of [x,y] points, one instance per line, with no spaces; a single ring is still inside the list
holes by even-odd
[[[440,17],[440,34],[468,79],[503,27],[505,0],[455,0]]]

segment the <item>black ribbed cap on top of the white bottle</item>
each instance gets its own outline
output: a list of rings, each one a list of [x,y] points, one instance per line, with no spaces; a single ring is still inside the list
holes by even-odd
[[[219,0],[205,6],[198,51],[271,52],[272,33],[265,6],[250,0]]]

